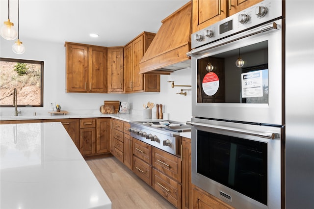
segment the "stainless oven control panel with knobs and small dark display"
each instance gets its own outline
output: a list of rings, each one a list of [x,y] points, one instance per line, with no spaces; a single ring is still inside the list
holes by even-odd
[[[263,0],[192,34],[192,49],[282,18],[281,0]]]

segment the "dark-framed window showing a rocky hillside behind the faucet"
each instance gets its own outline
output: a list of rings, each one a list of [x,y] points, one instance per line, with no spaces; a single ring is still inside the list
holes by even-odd
[[[44,62],[0,58],[0,106],[12,107],[13,91],[17,89],[17,104],[43,106]]]

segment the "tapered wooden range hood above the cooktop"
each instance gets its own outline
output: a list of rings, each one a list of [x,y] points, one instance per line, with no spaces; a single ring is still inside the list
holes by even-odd
[[[192,1],[164,19],[139,62],[140,74],[170,75],[191,66]]]

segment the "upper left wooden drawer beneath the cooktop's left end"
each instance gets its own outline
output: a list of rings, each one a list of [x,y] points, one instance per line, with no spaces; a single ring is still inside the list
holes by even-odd
[[[133,138],[133,155],[152,164],[152,146]]]

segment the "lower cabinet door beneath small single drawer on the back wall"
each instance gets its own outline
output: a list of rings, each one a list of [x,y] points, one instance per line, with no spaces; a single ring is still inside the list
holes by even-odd
[[[80,153],[82,155],[95,154],[95,128],[80,129]]]

